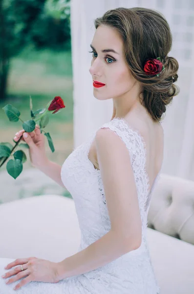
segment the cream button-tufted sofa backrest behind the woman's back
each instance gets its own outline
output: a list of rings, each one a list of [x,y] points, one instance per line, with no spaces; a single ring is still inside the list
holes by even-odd
[[[194,182],[161,174],[151,198],[148,227],[194,245]]]

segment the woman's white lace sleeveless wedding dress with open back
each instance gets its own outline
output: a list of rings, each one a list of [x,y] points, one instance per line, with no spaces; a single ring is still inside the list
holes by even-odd
[[[147,245],[147,214],[151,192],[160,172],[150,191],[143,137],[120,118],[114,118],[102,127],[115,132],[129,150],[142,220],[142,244],[138,249],[103,267],[69,277],[59,283],[30,282],[18,290],[20,294],[160,294]],[[61,172],[64,185],[75,201],[81,229],[79,251],[110,230],[101,173],[88,159],[89,147],[95,133],[96,131],[87,142],[74,149],[66,158]],[[4,266],[12,260],[0,259],[0,275],[5,272]],[[18,283],[19,281],[6,285],[4,279],[0,278],[0,294],[16,293],[13,288]]]

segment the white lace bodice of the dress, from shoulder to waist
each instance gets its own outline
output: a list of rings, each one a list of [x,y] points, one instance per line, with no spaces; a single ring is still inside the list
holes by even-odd
[[[147,214],[150,206],[151,192],[158,180],[160,172],[155,178],[150,191],[150,181],[146,170],[146,144],[144,138],[137,130],[132,129],[124,119],[120,118],[115,118],[108,123],[104,123],[100,128],[108,128],[110,131],[116,133],[129,150],[142,218],[142,229],[145,230],[147,227]],[[95,134],[96,131],[92,133],[86,143],[74,149],[67,157],[62,167],[61,175],[65,187],[75,201],[81,229],[86,230],[87,227],[83,218],[85,216],[88,218],[88,213],[92,215],[92,212],[94,212],[94,214],[100,213],[100,215],[98,215],[97,219],[91,218],[91,220],[97,226],[103,226],[107,232],[110,229],[110,221],[101,173],[100,170],[94,168],[88,158],[89,148],[94,140]],[[97,220],[99,223],[96,222]]]

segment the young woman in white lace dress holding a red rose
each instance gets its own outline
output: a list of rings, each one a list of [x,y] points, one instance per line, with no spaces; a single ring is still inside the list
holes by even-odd
[[[21,294],[160,293],[146,231],[163,162],[161,119],[178,93],[178,63],[168,56],[172,35],[160,13],[139,7],[109,10],[95,27],[89,72],[94,97],[113,99],[111,121],[73,150],[62,168],[47,159],[39,128],[14,138],[23,136],[32,165],[73,196],[79,251],[59,263],[0,259],[6,273],[0,294],[14,293],[16,285]]]

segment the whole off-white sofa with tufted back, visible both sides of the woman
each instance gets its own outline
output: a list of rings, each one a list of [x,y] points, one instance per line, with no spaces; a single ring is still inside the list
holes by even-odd
[[[161,294],[193,294],[194,182],[161,174],[148,225]],[[0,257],[36,256],[57,262],[76,253],[79,242],[79,224],[70,198],[45,195],[0,205]]]

